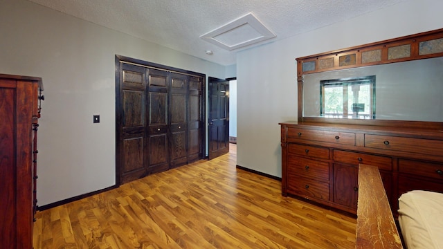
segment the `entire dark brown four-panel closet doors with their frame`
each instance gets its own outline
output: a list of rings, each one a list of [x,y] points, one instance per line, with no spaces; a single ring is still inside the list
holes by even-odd
[[[116,185],[205,156],[205,75],[116,55]]]

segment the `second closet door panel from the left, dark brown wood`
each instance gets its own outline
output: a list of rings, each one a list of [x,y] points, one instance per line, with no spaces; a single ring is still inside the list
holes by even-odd
[[[148,77],[148,168],[149,174],[169,169],[168,72],[149,69]]]

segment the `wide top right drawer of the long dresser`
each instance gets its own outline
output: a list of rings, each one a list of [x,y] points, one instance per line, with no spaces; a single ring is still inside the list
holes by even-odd
[[[406,151],[426,155],[443,154],[443,140],[365,134],[365,147]]]

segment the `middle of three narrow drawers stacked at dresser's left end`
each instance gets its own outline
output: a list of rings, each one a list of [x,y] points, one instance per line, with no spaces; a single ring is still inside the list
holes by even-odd
[[[288,174],[329,182],[329,163],[288,156]]]

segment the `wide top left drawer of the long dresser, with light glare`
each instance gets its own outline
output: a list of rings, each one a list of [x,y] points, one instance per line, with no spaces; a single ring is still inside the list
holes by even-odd
[[[343,145],[355,145],[355,133],[339,131],[321,131],[314,129],[288,128],[288,138],[334,142]]]

